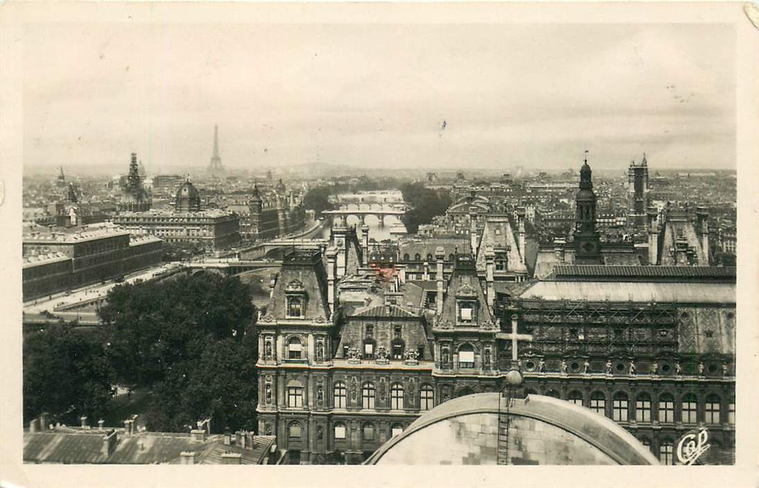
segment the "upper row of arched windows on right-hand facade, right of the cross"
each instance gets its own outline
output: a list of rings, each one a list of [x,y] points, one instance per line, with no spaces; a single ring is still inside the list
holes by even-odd
[[[546,395],[551,395],[550,390]],[[555,393],[555,392],[554,392]],[[572,391],[569,393],[568,401],[576,405],[583,405],[583,395],[581,392]],[[704,422],[717,424],[720,423],[720,404],[721,400],[718,395],[708,395],[704,403]],[[635,399],[635,420],[638,422],[651,421],[651,407],[653,402],[650,395],[641,393]],[[606,414],[606,395],[602,392],[594,392],[588,405],[591,410],[599,414]],[[618,422],[627,422],[629,413],[628,395],[624,392],[618,392],[612,399],[612,419]],[[683,423],[698,423],[698,398],[691,393],[682,397],[680,420]],[[662,423],[672,423],[675,421],[675,398],[669,393],[659,397],[657,402],[658,420]],[[735,423],[735,402],[731,401],[727,411],[727,421],[730,424]]]

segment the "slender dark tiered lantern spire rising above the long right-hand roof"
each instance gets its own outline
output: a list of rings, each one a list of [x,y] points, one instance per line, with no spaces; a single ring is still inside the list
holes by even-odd
[[[580,190],[575,205],[575,264],[602,264],[600,236],[596,231],[596,194],[591,167],[587,165],[587,151],[580,169]]]

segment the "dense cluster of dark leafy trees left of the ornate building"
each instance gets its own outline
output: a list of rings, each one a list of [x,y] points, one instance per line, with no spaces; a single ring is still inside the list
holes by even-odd
[[[149,389],[150,430],[255,427],[257,340],[248,285],[213,272],[116,286],[86,335],[60,324],[27,336],[25,420],[99,418],[115,384]],[[69,420],[71,421],[71,420]]]

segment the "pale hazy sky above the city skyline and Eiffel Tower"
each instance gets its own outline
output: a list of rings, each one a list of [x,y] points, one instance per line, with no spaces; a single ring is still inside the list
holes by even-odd
[[[36,24],[24,161],[204,167],[219,124],[251,169],[732,168],[734,51],[693,24]]]

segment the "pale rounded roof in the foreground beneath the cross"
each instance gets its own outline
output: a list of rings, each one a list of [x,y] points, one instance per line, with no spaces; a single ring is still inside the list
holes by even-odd
[[[509,416],[505,449],[501,394],[454,398],[389,439],[365,464],[497,464],[505,452],[508,464],[659,464],[613,420],[569,401],[515,398]]]

